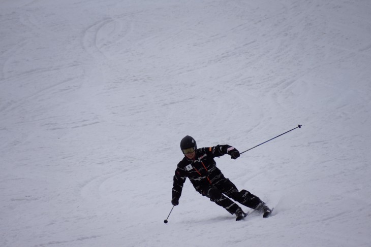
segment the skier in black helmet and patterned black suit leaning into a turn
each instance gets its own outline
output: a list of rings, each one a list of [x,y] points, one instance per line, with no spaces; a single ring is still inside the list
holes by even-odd
[[[229,154],[232,159],[237,159],[240,156],[237,149],[229,145],[197,149],[195,139],[189,135],[181,139],[180,149],[184,158],[175,170],[171,200],[174,206],[179,204],[183,184],[185,179],[189,178],[196,191],[224,207],[232,215],[235,214],[236,221],[246,217],[246,214],[228,197],[246,207],[270,214],[271,209],[259,197],[246,190],[238,191],[237,187],[226,179],[216,166],[214,157]]]

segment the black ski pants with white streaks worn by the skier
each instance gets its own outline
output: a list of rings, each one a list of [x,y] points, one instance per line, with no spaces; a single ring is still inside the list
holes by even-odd
[[[238,191],[237,187],[229,179],[225,178],[212,185],[202,186],[200,193],[210,198],[210,201],[224,207],[231,214],[234,214],[240,207],[229,198],[253,209],[262,202],[259,197],[247,190]]]

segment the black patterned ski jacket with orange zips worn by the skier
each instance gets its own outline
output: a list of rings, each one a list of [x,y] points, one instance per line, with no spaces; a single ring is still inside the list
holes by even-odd
[[[173,198],[180,198],[183,184],[187,178],[190,179],[196,191],[202,194],[205,185],[214,185],[225,179],[221,170],[217,167],[215,157],[229,154],[234,148],[229,145],[218,145],[210,148],[200,148],[196,150],[196,155],[192,160],[187,157],[178,163],[175,170],[173,183]]]

